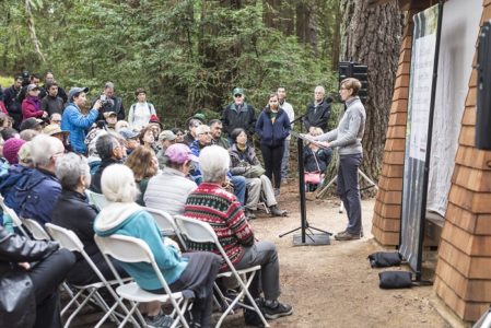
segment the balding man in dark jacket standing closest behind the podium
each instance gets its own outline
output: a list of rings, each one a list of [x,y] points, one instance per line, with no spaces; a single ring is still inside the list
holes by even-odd
[[[311,128],[320,128],[323,131],[327,130],[332,98],[326,98],[325,95],[326,91],[324,86],[317,85],[314,91],[314,103],[308,104],[307,114],[304,118],[304,126],[307,132],[311,132]]]

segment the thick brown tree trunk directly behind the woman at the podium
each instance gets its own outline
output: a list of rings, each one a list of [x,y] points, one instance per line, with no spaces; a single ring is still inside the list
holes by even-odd
[[[402,32],[397,1],[367,8],[367,1],[341,0],[340,60],[369,67],[362,171],[377,179],[384,154]]]

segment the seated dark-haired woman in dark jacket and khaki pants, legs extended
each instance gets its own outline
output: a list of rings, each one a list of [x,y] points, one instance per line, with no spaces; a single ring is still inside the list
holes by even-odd
[[[238,128],[233,130],[230,137],[233,141],[233,144],[229,150],[231,159],[230,172],[233,175],[247,176],[247,201],[245,204],[247,218],[254,219],[256,216],[254,212],[257,210],[257,203],[259,202],[261,192],[265,195],[266,206],[270,209],[271,215],[287,215],[287,211],[278,208],[278,202],[274,198],[274,189],[272,188],[271,180],[264,174],[264,169],[261,175],[247,175],[252,174],[252,171],[254,171],[255,167],[260,166],[260,162],[256,156],[254,145],[247,142],[246,131]]]

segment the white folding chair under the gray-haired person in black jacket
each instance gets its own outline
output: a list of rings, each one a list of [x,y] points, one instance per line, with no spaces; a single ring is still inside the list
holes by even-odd
[[[57,241],[58,243],[60,243],[61,247],[67,248],[70,251],[78,251],[80,253],[83,258],[85,259],[85,261],[89,263],[89,266],[92,268],[92,270],[95,272],[95,274],[97,274],[97,278],[101,280],[101,283],[92,283],[90,285],[86,286],[75,286],[79,291],[79,293],[77,294],[77,296],[73,298],[75,302],[77,298],[82,295],[82,293],[84,291],[89,292],[89,297],[86,297],[86,300],[89,300],[92,295],[94,295],[95,297],[95,302],[98,303],[101,302],[101,296],[96,293],[97,289],[105,286],[106,290],[110,293],[110,295],[114,297],[114,300],[116,301],[115,304],[109,308],[109,306],[105,303],[105,301],[103,301],[103,308],[106,308],[106,314],[103,316],[103,318],[97,323],[97,327],[101,326],[107,317],[112,316],[113,318],[115,318],[115,316],[113,315],[113,312],[116,309],[116,307],[119,305],[119,307],[125,312],[125,315],[128,315],[128,308],[122,304],[122,302],[119,300],[119,297],[117,296],[116,292],[114,291],[114,289],[112,288],[112,285],[116,284],[116,283],[120,283],[122,284],[122,281],[120,280],[120,277],[117,277],[118,281],[107,281],[106,278],[104,277],[104,274],[101,272],[101,270],[98,270],[97,266],[95,266],[94,261],[91,259],[91,257],[89,256],[89,254],[86,254],[85,249],[83,248],[83,243],[82,241],[80,241],[79,236],[71,230],[65,229],[62,226],[59,225],[55,225],[52,223],[46,223],[46,230],[49,233],[49,235]],[[63,308],[63,313],[72,305],[73,302],[70,302],[65,308]],[[79,305],[79,307],[75,309],[75,312],[73,312],[71,314],[71,316],[69,317],[69,319],[66,323],[66,327],[70,326],[71,320],[77,316],[77,314],[83,308],[83,306],[86,304],[86,301],[82,302],[82,305]],[[116,319],[117,320],[117,319]]]

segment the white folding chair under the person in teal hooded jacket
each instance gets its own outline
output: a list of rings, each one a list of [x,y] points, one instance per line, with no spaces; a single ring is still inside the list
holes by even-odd
[[[133,307],[129,311],[129,315],[131,315],[138,307],[138,304],[141,302],[154,302],[159,301],[161,303],[171,302],[174,307],[172,316],[175,317],[177,313],[177,317],[175,317],[174,323],[172,324],[172,328],[177,327],[180,324],[185,328],[189,328],[186,318],[184,317],[184,313],[189,305],[189,297],[185,296],[183,292],[173,293],[168,288],[167,282],[165,281],[161,269],[155,262],[155,258],[150,250],[149,245],[139,238],[122,236],[122,235],[112,235],[108,237],[94,236],[95,243],[98,248],[103,253],[104,257],[108,261],[113,272],[115,276],[118,276],[116,270],[114,269],[113,263],[108,260],[107,256],[112,256],[113,258],[121,261],[121,262],[147,262],[149,263],[153,271],[155,272],[159,282],[165,290],[165,294],[154,294],[151,292],[147,292],[138,286],[136,282],[130,282],[127,284],[122,284],[116,289],[116,293],[121,297],[135,302]],[[192,292],[191,292],[192,293]],[[128,316],[129,316],[128,315]],[[128,316],[122,320],[119,327],[124,327]]]

